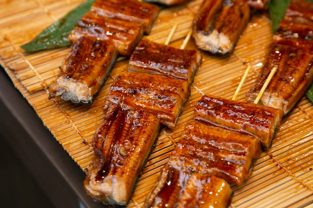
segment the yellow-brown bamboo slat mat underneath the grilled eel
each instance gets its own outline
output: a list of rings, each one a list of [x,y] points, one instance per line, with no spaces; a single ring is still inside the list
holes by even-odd
[[[93,152],[91,139],[103,118],[102,108],[113,79],[127,70],[127,59],[115,64],[110,77],[92,105],[75,105],[58,98],[48,100],[46,87],[57,78],[68,48],[27,53],[19,46],[76,7],[82,0],[0,0],[0,64],[15,87],[33,107],[43,124],[81,168],[89,167]],[[191,20],[201,0],[161,10],[149,38],[163,43],[173,24],[178,26],[169,45],[180,47],[190,30]],[[147,192],[156,182],[160,167],[166,163],[173,145],[181,136],[184,122],[192,118],[193,108],[203,94],[231,99],[243,75],[246,62],[251,65],[237,100],[256,82],[271,40],[268,18],[255,13],[239,39],[235,51],[225,56],[203,52],[203,63],[196,72],[190,97],[176,128],[160,131],[156,147],[137,183],[128,208],[141,208]],[[185,48],[194,49],[192,39]],[[305,96],[283,118],[272,148],[256,161],[251,178],[242,186],[232,186],[232,208],[313,207],[313,106]],[[82,184],[82,182],[81,182]]]

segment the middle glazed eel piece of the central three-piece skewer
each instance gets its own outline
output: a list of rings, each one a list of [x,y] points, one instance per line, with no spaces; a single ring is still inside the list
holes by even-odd
[[[110,87],[104,113],[112,104],[122,103],[157,116],[160,123],[174,128],[189,96],[187,81],[157,74],[122,72]]]

